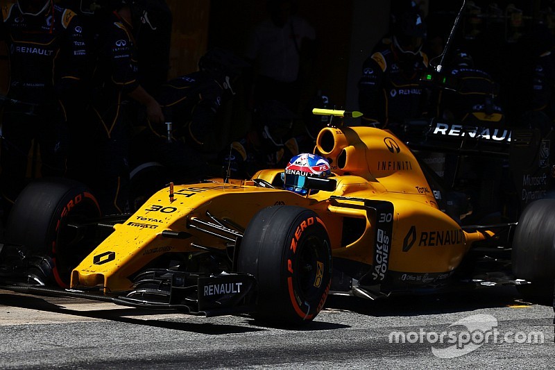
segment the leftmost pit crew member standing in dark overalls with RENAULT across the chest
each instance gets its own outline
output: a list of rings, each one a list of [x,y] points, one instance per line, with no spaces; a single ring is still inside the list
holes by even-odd
[[[86,51],[76,14],[51,0],[19,0],[2,6],[2,15],[0,39],[8,46],[10,62],[0,154],[7,214],[26,183],[33,140],[40,150],[42,176],[65,174],[64,104],[78,94]]]

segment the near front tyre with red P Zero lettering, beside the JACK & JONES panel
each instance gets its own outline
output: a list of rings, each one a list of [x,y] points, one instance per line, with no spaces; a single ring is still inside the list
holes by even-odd
[[[245,230],[238,270],[257,279],[257,319],[285,325],[313,320],[323,308],[332,276],[325,225],[306,208],[260,210]]]

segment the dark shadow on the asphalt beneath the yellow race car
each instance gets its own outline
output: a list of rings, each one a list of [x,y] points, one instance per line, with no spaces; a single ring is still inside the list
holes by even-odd
[[[58,314],[69,314],[76,317],[103,319],[134,325],[150,326],[181,330],[205,335],[227,335],[233,333],[248,333],[279,328],[282,330],[296,331],[321,331],[348,328],[350,326],[326,321],[311,321],[302,326],[284,326],[282,323],[268,323],[259,321],[247,314],[237,315],[237,325],[214,323],[210,318],[205,322],[181,321],[175,317],[168,319],[148,319],[148,316],[161,314],[179,314],[178,310],[146,310],[141,308],[121,308],[114,305],[112,309],[102,310],[72,310],[66,308],[68,303],[92,303],[81,298],[64,298],[53,296],[33,296],[10,292],[0,292],[0,303],[6,306],[41,310]],[[531,305],[535,302],[524,300],[515,287],[499,286],[475,289],[465,292],[446,292],[429,294],[404,294],[392,295],[376,301],[357,298],[355,296],[330,295],[327,298],[324,310],[347,311],[369,317],[398,316],[411,317],[422,314],[443,314],[450,312],[466,312],[481,308],[499,308],[511,305]],[[182,314],[183,317],[191,316]],[[129,317],[134,316],[134,317]],[[142,318],[135,318],[142,317]],[[146,319],[145,319],[146,317]]]

